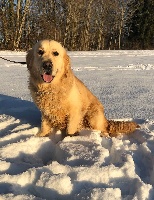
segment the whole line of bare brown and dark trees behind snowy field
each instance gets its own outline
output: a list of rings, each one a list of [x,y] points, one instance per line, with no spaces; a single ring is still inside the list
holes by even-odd
[[[153,49],[154,0],[1,0],[0,49]]]

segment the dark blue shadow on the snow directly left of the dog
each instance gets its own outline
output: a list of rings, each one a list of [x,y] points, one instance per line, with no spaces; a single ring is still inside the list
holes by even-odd
[[[30,124],[31,127],[40,126],[41,123],[40,111],[34,103],[0,94],[0,123],[6,122],[9,126],[7,121],[11,118],[20,121],[20,124]]]

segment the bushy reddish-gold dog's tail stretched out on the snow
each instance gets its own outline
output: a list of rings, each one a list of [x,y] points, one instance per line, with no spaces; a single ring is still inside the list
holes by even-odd
[[[107,132],[111,137],[119,134],[130,134],[133,133],[140,126],[131,121],[113,121],[108,120]]]

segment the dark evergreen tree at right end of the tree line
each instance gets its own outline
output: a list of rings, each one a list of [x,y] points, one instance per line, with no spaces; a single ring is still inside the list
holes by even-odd
[[[129,48],[154,48],[154,0],[133,0],[128,8],[133,13],[127,23]]]

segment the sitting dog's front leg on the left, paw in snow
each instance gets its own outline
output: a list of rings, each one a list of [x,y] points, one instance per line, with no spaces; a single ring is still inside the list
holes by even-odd
[[[52,128],[50,126],[49,120],[46,117],[42,116],[41,129],[37,133],[37,136],[38,137],[45,137],[45,136],[48,136],[53,131],[54,131],[54,128]]]

